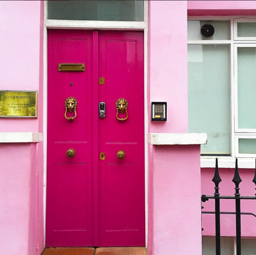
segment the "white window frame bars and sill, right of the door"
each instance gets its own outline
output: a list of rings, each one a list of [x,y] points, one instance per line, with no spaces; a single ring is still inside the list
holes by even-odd
[[[215,158],[218,157],[219,167],[234,168],[235,158],[239,158],[239,168],[255,168],[256,154],[239,154],[238,138],[240,136],[256,136],[256,129],[238,129],[238,97],[237,97],[237,48],[240,46],[248,47],[256,43],[256,38],[238,38],[238,22],[256,22],[255,16],[192,16],[189,20],[216,20],[230,21],[230,40],[188,40],[188,44],[200,45],[230,45],[230,156],[201,156],[202,168],[215,167]],[[250,44],[249,44],[250,43]],[[256,45],[256,44],[255,44]],[[236,52],[235,52],[236,51]],[[254,133],[255,132],[255,133]],[[241,138],[241,137],[240,137]]]

